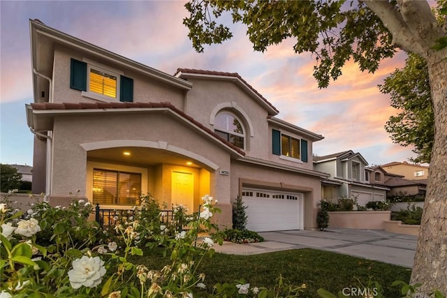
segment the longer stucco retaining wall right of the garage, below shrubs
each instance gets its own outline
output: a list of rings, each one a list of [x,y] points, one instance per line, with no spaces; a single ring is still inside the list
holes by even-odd
[[[329,228],[384,230],[391,211],[330,211]]]

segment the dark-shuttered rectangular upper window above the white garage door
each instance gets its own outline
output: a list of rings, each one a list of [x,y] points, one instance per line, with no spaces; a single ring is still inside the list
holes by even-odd
[[[307,163],[307,140],[292,137],[272,130],[272,154],[279,155],[291,161],[303,161]]]

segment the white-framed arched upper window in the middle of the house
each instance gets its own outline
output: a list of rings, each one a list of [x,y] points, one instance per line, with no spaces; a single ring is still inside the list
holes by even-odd
[[[245,133],[242,123],[229,112],[221,112],[216,115],[214,133],[240,149],[245,148]]]

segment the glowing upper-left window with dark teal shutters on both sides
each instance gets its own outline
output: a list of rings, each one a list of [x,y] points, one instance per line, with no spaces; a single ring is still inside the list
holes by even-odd
[[[96,100],[133,101],[133,79],[88,60],[71,59],[70,88]]]

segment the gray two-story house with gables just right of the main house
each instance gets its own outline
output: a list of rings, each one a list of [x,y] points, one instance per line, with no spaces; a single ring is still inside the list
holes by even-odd
[[[373,171],[367,165],[361,154],[351,150],[314,156],[314,169],[330,174],[330,178],[321,182],[321,198],[337,202],[338,198],[353,196],[362,206],[384,200],[389,188],[371,181]]]

